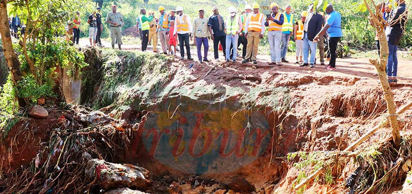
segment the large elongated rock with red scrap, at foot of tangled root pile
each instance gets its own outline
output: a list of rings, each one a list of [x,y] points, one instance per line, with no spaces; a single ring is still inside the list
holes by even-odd
[[[103,189],[118,187],[133,187],[144,189],[152,182],[148,179],[149,171],[131,164],[117,164],[104,160],[90,159],[84,154],[83,161],[87,161],[86,176],[95,179]]]

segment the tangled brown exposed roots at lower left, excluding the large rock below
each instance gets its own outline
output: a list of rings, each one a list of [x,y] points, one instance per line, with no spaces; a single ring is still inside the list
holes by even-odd
[[[129,144],[128,130],[131,129],[120,131],[114,126],[94,126],[82,131],[53,129],[48,143],[30,164],[4,172],[0,193],[93,192],[98,187],[93,180],[87,181],[84,173],[87,161],[81,160],[82,153],[88,152],[94,158],[107,161],[117,160],[116,150]]]

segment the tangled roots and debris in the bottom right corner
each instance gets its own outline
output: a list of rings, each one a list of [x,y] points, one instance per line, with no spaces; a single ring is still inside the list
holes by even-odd
[[[396,150],[388,139],[379,146],[358,155],[355,163],[358,169],[347,179],[349,194],[386,193],[393,185],[402,184],[411,170],[411,139],[402,138],[401,147]]]

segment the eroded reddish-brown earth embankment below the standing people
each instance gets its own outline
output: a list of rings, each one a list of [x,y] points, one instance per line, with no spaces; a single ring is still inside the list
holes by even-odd
[[[105,136],[116,134],[117,147],[101,156],[101,136],[88,136],[100,145],[93,156],[147,169],[153,183],[140,189],[147,193],[295,193],[293,181],[304,169],[294,166],[298,158],[288,161],[288,153],[343,150],[378,124],[386,109],[373,69],[363,60],[340,60],[341,71],[324,72],[292,64],[199,64],[151,53],[111,57],[102,67],[104,76],[89,87],[92,100],[82,100],[120,120],[98,127],[78,121],[62,134],[101,128]],[[405,70],[399,77],[403,81],[392,87],[397,106],[412,97],[412,73]],[[3,169],[27,168],[35,161],[53,129],[61,128],[53,125],[60,116],[51,110],[46,120],[17,123],[2,150],[10,162]],[[410,134],[411,117],[401,118],[402,134]],[[21,129],[24,125],[29,128]],[[389,135],[382,129],[360,148]],[[30,153],[24,151],[28,145]],[[341,185],[355,166],[344,167],[342,176],[332,176],[332,186],[321,179],[306,193],[346,190]]]

